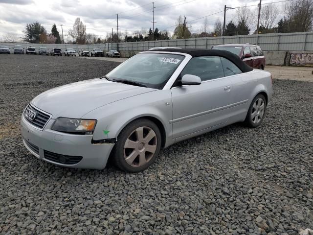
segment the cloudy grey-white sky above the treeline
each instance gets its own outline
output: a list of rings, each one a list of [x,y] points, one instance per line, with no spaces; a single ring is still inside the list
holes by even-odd
[[[86,24],[87,33],[105,38],[107,33],[116,31],[115,14],[118,13],[119,32],[129,35],[136,30],[152,28],[153,0],[0,0],[0,41],[7,33],[23,37],[27,23],[39,22],[51,32],[56,24],[61,34],[60,24],[64,24],[66,35],[77,17]],[[171,34],[179,15],[186,16],[191,32],[201,32],[207,18],[208,29],[212,31],[217,18],[223,22],[224,5],[237,7],[256,5],[259,0],[155,0],[155,28],[167,30]],[[262,3],[271,2],[263,0]],[[255,11],[257,6],[249,7]],[[226,22],[232,20],[236,9],[226,11]],[[218,13],[219,12],[219,13]],[[217,14],[214,14],[217,13]],[[214,15],[213,15],[214,14]],[[207,17],[206,17],[207,16]],[[201,18],[197,20],[198,18]]]

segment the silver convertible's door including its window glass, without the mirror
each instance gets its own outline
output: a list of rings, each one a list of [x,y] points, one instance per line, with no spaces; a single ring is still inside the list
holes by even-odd
[[[192,58],[180,74],[201,78],[200,85],[171,89],[173,103],[173,138],[186,139],[222,126],[229,119],[227,106],[232,104],[231,81],[224,77],[221,58]]]

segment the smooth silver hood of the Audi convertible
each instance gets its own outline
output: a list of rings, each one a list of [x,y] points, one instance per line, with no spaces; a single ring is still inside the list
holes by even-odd
[[[52,118],[81,118],[106,104],[155,90],[95,78],[48,90],[31,103]]]

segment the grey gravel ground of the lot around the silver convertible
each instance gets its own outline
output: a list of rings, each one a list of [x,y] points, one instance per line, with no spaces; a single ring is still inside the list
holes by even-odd
[[[313,83],[274,79],[261,127],[234,124],[161,151],[145,172],[47,164],[23,108],[118,63],[0,55],[0,234],[278,234],[313,229]]]

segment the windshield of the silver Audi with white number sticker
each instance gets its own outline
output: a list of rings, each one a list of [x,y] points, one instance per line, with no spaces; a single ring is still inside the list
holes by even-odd
[[[162,89],[183,59],[177,54],[139,53],[108,73],[107,78]]]

